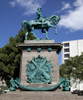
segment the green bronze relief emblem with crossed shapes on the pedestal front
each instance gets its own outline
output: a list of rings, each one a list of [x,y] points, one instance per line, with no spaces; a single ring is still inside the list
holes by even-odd
[[[53,67],[51,61],[47,61],[46,57],[34,58],[28,61],[27,69],[27,82],[29,83],[51,83],[51,68]]]

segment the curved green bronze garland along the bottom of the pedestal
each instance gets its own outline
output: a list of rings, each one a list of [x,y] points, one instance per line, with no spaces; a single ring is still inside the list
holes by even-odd
[[[12,79],[12,78],[11,78]],[[65,85],[63,85],[66,82]],[[29,87],[29,86],[24,86],[22,84],[20,84],[19,79],[17,78],[16,80],[10,81],[10,91],[15,91],[16,88],[20,88],[21,90],[29,90],[29,91],[50,91],[50,90],[55,90],[58,87],[62,87],[65,88],[63,89],[64,91],[69,91],[69,80],[68,79],[60,79],[59,83],[54,85],[54,86],[50,86],[50,87]],[[12,89],[13,88],[13,89]]]

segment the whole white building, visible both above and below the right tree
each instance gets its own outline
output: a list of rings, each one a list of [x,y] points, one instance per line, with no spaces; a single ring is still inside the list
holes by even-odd
[[[83,39],[81,40],[73,40],[73,41],[64,41],[62,42],[62,63],[65,63],[69,57],[74,57],[76,55],[80,56],[83,52]],[[79,79],[74,80],[71,78],[70,80],[70,90],[71,92],[80,91],[83,92],[83,81]]]

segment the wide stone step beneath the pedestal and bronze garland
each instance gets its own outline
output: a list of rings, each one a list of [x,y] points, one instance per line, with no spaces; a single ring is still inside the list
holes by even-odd
[[[83,96],[62,91],[15,91],[0,95],[0,100],[83,100]]]

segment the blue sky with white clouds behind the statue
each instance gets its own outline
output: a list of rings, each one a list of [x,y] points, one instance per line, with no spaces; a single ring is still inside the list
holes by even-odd
[[[10,36],[18,34],[23,20],[37,18],[38,7],[45,17],[61,17],[56,26],[58,34],[49,29],[49,37],[56,43],[83,39],[83,0],[0,0],[0,48],[9,42]],[[45,37],[38,32],[38,37]]]

